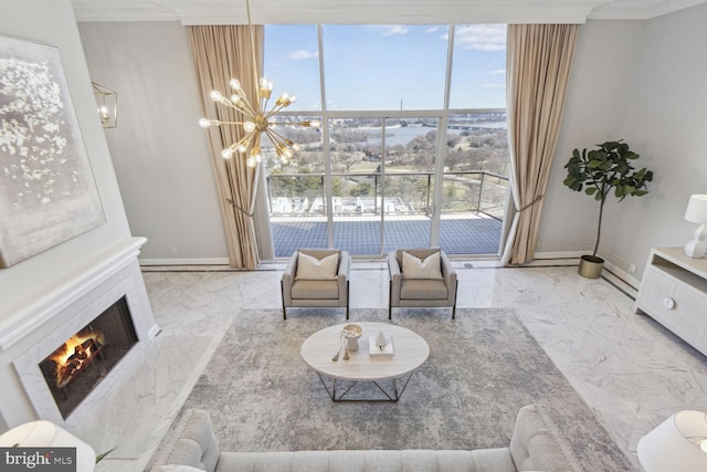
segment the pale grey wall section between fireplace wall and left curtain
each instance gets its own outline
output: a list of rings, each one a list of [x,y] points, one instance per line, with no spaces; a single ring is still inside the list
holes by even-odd
[[[94,82],[118,92],[108,146],[140,260],[228,262],[187,29],[80,23]],[[176,248],[176,253],[172,249]]]

